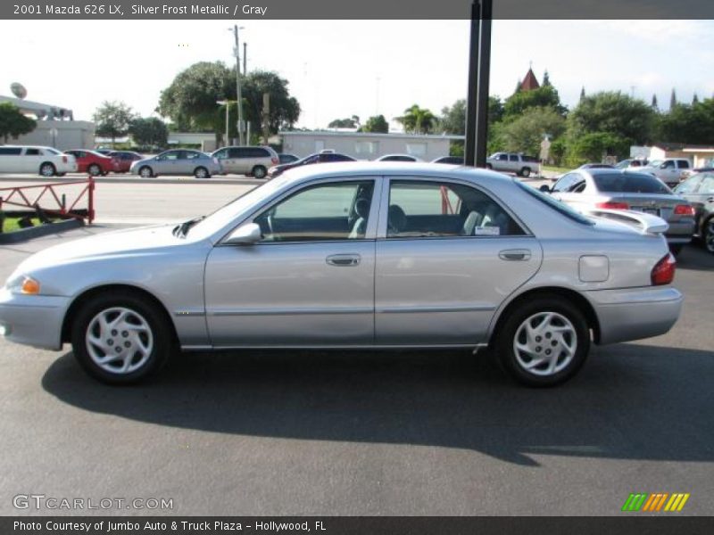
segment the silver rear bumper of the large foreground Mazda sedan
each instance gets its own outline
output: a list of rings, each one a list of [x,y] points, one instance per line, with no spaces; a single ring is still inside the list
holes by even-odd
[[[586,292],[600,323],[598,343],[627,342],[667,333],[682,309],[671,286]]]

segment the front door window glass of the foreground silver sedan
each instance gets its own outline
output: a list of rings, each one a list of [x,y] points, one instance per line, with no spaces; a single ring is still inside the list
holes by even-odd
[[[364,239],[374,182],[337,182],[305,188],[253,221],[262,242]]]

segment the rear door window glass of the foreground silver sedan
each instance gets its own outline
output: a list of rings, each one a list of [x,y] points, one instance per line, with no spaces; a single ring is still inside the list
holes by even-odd
[[[468,185],[394,180],[387,238],[524,235],[486,193]]]

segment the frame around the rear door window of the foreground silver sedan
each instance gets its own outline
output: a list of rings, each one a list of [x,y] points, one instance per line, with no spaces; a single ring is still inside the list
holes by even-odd
[[[391,187],[392,187],[392,182],[424,182],[424,183],[445,183],[445,184],[454,184],[454,185],[463,185],[466,187],[473,188],[477,190],[477,192],[482,193],[486,195],[489,199],[494,201],[500,208],[503,210],[506,214],[508,214],[513,221],[520,226],[521,230],[523,231],[522,235],[497,235],[497,236],[486,236],[486,235],[469,235],[469,236],[461,236],[461,235],[454,235],[454,236],[403,236],[403,237],[387,237],[386,235],[386,219],[387,219],[387,214],[389,213],[389,193],[391,192]],[[403,176],[389,176],[389,177],[384,177],[383,183],[382,183],[382,191],[380,195],[380,206],[379,206],[379,214],[380,218],[378,220],[378,230],[377,230],[377,239],[378,241],[382,242],[402,242],[405,240],[463,240],[463,239],[473,239],[473,240],[497,240],[500,238],[533,238],[535,235],[531,232],[530,228],[523,222],[521,218],[519,218],[516,214],[513,213],[512,210],[510,210],[506,203],[502,202],[502,200],[498,197],[493,192],[486,191],[483,187],[480,187],[480,185],[477,185],[473,182],[470,182],[469,180],[462,180],[459,178],[451,178],[451,177],[427,177],[423,175],[403,175]],[[371,214],[370,214],[371,217]]]

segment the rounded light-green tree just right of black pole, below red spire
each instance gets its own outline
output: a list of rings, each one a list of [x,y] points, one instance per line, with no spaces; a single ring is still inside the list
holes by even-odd
[[[565,119],[552,108],[528,108],[518,119],[503,125],[501,136],[509,152],[526,152],[535,156],[540,152],[544,135],[551,139],[565,132]]]

